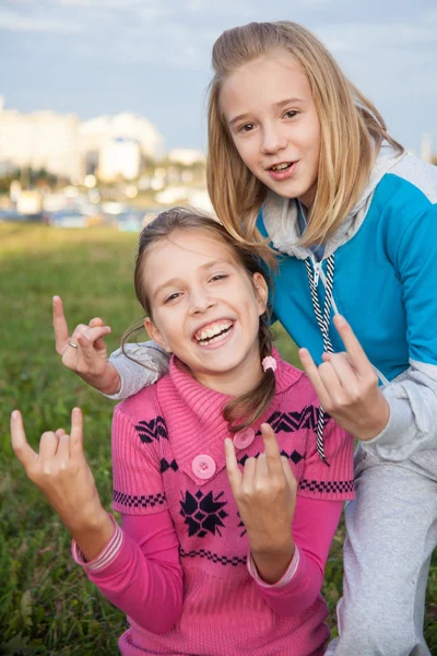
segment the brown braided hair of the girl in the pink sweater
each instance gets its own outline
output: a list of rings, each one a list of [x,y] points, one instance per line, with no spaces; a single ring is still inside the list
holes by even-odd
[[[201,231],[215,239],[220,239],[229,248],[235,260],[246,271],[247,276],[252,278],[255,273],[261,273],[269,282],[270,276],[267,270],[265,262],[262,260],[262,245],[258,245],[256,249],[236,241],[226,230],[217,222],[211,219],[184,208],[173,208],[162,212],[152,223],[146,225],[140,234],[139,249],[135,260],[134,270],[134,288],[137,298],[143,307],[145,315],[153,319],[153,312],[146,291],[144,289],[144,262],[147,253],[154,244],[168,238],[176,231]],[[259,324],[259,353],[262,360],[267,355],[271,355],[272,351],[272,333],[270,330],[270,307],[260,317]],[[122,339],[122,351],[127,358],[130,358],[125,345],[128,338],[140,330],[142,327],[137,327],[128,330]],[[133,360],[133,358],[130,358]],[[239,431],[262,417],[274,396],[275,375],[272,370],[264,372],[259,384],[245,395],[234,398],[224,408],[224,418],[229,422],[232,432]]]

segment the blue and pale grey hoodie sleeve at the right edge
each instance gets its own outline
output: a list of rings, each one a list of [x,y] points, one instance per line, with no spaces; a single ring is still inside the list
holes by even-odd
[[[415,453],[437,448],[437,204],[426,202],[416,191],[415,210],[402,234],[399,218],[413,203],[391,207],[397,212],[393,234],[387,243],[402,284],[406,316],[410,367],[390,383],[383,394],[390,406],[390,419],[383,431],[366,443],[381,459],[401,461]],[[398,207],[399,206],[399,207]],[[388,210],[389,211],[389,210]]]

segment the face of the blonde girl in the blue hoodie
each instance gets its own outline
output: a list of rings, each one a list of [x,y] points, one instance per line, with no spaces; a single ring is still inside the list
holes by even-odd
[[[235,147],[270,189],[314,201],[320,121],[308,78],[285,49],[246,63],[226,78],[220,96]]]

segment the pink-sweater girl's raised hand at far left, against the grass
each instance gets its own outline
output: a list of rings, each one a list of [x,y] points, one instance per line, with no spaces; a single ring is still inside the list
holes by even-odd
[[[12,448],[28,479],[39,488],[76,539],[85,558],[97,555],[114,531],[102,506],[93,473],[83,453],[82,412],[71,413],[70,435],[63,429],[43,433],[39,453],[27,443],[21,413],[11,415]]]

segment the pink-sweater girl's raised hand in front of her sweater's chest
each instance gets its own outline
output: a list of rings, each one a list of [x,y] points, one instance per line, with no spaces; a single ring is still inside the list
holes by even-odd
[[[281,456],[275,434],[261,425],[264,453],[247,458],[241,472],[232,440],[225,440],[226,470],[239,515],[246,527],[257,569],[269,583],[279,581],[293,554],[292,523],[297,482]]]

